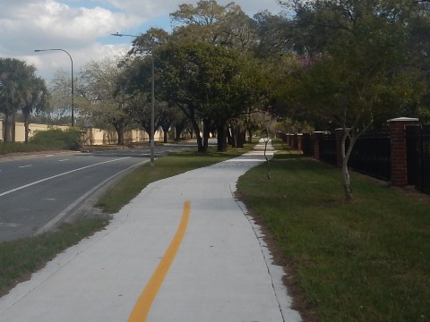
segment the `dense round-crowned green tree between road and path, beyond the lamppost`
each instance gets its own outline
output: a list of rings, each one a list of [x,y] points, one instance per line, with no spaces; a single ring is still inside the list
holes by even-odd
[[[225,149],[228,119],[261,103],[265,83],[258,64],[236,50],[204,42],[170,43],[157,53],[159,91],[189,117],[199,151],[206,150],[206,134],[213,128],[221,136],[219,149]]]

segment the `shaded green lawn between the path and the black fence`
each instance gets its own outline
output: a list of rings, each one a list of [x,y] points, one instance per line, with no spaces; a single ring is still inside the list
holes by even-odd
[[[327,322],[429,321],[430,197],[352,174],[348,202],[340,170],[275,148],[271,180],[260,165],[238,191],[294,272],[302,309]]]

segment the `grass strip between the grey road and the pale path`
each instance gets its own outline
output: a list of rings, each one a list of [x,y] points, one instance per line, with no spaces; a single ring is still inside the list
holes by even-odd
[[[142,165],[117,182],[100,199],[99,206],[106,213],[116,213],[150,182],[237,157],[253,147],[254,143],[245,145],[245,148],[230,148],[228,152],[209,148],[205,154],[189,150],[160,157],[155,160],[155,166]],[[101,218],[84,219],[72,225],[63,225],[56,232],[0,242],[0,296],[9,292],[15,284],[29,279],[31,273],[44,267],[56,254],[103,229],[107,223],[106,219]]]

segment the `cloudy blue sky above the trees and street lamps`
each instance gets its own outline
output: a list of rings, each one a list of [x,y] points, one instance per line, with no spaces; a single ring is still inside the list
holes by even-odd
[[[228,4],[228,0],[217,0]],[[58,71],[70,72],[70,59],[61,52],[34,49],[62,48],[73,57],[75,72],[90,60],[124,55],[133,38],[111,33],[141,34],[151,27],[170,30],[169,13],[179,4],[197,0],[0,0],[0,57],[34,64],[47,81]],[[276,0],[236,0],[250,16],[268,10],[280,13]]]

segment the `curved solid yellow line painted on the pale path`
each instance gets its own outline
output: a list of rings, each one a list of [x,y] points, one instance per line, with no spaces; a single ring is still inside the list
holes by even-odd
[[[155,300],[159,288],[164,281],[164,278],[168,274],[168,268],[173,263],[173,259],[176,256],[177,250],[184,239],[186,227],[188,225],[188,219],[190,218],[190,201],[185,201],[184,210],[182,213],[181,222],[177,228],[173,241],[168,246],[168,250],[164,254],[163,258],[159,262],[159,266],[155,270],[154,274],[150,277],[150,282],[146,284],[141,296],[134,305],[132,314],[128,318],[128,322],[144,322],[150,312],[152,302]]]

